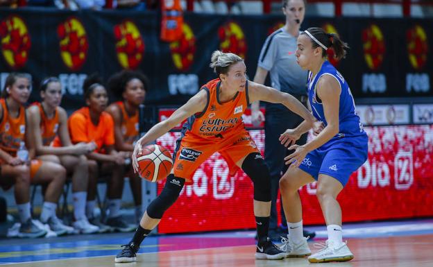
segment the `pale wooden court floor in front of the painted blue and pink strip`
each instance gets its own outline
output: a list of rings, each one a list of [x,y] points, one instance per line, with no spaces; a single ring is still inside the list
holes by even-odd
[[[310,264],[307,259],[255,260],[255,246],[235,246],[153,252],[138,255],[137,262],[114,264],[113,256],[37,261],[3,266],[26,267],[432,267],[433,234],[349,239],[355,259],[347,262]],[[319,242],[319,241],[316,241]],[[316,251],[313,244],[309,246]]]

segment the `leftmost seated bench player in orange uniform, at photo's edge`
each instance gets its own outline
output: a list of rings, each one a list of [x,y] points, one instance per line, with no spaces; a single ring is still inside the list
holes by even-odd
[[[29,184],[42,184],[45,187],[44,204],[40,220],[48,223],[51,230],[61,235],[67,233],[66,225],[56,217],[56,207],[66,171],[61,165],[42,160],[32,160],[34,146],[28,136],[31,128],[26,127],[26,104],[31,92],[31,78],[27,74],[10,74],[6,78],[3,98],[0,100],[0,183],[3,189],[15,184],[15,200],[19,210],[21,227],[19,236],[37,237],[46,234],[31,221]],[[20,158],[17,151],[24,144],[29,148],[30,157]],[[31,160],[31,161],[28,161]]]

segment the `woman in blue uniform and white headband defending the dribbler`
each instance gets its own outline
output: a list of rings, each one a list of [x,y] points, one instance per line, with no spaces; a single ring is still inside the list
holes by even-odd
[[[294,145],[309,130],[306,123],[288,129],[280,141],[295,153],[285,157],[291,164],[280,180],[283,207],[289,236],[282,248],[288,257],[310,255],[303,237],[302,206],[299,187],[317,180],[316,195],[325,216],[328,240],[310,262],[348,261],[353,259],[341,235],[341,207],[337,196],[350,175],[367,159],[368,137],[355,112],[355,102],[343,76],[327,60],[326,50],[333,48],[338,59],[344,58],[348,46],[334,33],[308,28],[298,37],[297,62],[309,70],[308,97],[312,112],[325,128],[303,146]]]

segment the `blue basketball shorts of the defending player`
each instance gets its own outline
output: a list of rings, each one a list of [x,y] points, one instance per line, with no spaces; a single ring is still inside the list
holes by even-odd
[[[344,187],[350,175],[366,162],[367,156],[368,146],[358,148],[350,144],[339,144],[326,150],[318,148],[305,156],[299,169],[312,175],[314,180],[319,179],[319,174],[330,175]]]

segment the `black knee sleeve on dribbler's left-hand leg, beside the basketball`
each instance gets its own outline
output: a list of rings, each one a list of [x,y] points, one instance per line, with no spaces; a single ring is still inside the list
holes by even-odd
[[[160,196],[148,205],[146,209],[147,215],[151,218],[162,218],[164,212],[178,199],[184,184],[185,179],[174,177],[173,174],[169,175]]]

